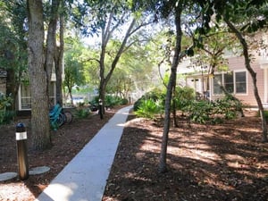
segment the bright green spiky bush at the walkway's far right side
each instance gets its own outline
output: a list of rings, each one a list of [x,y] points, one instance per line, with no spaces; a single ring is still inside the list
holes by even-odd
[[[135,112],[138,117],[148,119],[155,119],[155,115],[161,113],[163,113],[163,105],[161,105],[160,101],[152,99],[142,100],[138,110]]]

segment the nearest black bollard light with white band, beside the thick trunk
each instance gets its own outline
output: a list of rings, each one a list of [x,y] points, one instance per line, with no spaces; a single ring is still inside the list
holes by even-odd
[[[27,132],[23,123],[18,123],[16,126],[16,141],[19,178],[27,180],[29,178]]]

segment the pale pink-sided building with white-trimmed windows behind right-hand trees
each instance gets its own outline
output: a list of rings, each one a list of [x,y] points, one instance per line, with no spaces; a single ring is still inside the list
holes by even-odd
[[[239,98],[244,105],[257,106],[254,95],[253,80],[245,66],[243,56],[230,55],[227,57],[228,71],[215,71],[209,75],[206,64],[196,66],[195,71],[189,68],[189,61],[180,63],[178,74],[184,74],[184,86],[195,88],[197,96],[215,100],[223,96],[221,86]],[[268,52],[264,49],[255,54],[251,67],[256,73],[256,84],[264,107],[268,106]]]

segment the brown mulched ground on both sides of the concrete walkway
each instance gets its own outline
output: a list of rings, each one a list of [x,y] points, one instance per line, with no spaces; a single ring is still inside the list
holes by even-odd
[[[52,149],[29,153],[31,166],[47,165],[51,171],[0,182],[0,200],[34,200],[115,111],[103,121],[96,115],[64,125],[54,134]],[[165,173],[157,172],[162,132],[161,122],[129,116],[103,201],[268,200],[268,144],[261,142],[254,112],[220,125],[180,118],[180,128],[171,127],[169,134]],[[1,128],[0,146],[1,172],[16,172],[12,126]]]

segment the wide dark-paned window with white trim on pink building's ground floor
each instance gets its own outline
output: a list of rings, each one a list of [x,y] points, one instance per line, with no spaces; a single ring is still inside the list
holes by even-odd
[[[247,93],[247,73],[246,71],[231,71],[214,76],[214,95],[222,94],[222,86],[234,94]]]

